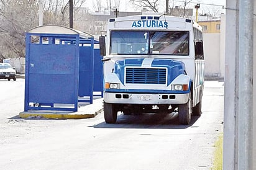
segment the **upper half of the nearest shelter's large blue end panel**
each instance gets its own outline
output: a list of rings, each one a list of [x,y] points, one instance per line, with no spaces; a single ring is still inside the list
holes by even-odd
[[[29,73],[75,74],[75,45],[31,44]]]

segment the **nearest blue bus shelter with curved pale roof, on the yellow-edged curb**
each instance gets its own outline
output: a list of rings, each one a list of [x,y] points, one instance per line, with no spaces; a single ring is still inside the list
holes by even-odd
[[[82,45],[85,42],[89,45]],[[92,103],[93,47],[94,37],[75,29],[60,25],[30,29],[26,34],[25,111],[75,112],[80,91]],[[84,76],[87,84],[82,83]]]

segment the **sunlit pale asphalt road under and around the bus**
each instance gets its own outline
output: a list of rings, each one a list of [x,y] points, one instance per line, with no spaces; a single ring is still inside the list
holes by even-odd
[[[177,114],[20,119],[24,79],[0,80],[0,169],[210,169],[223,132],[224,83],[207,81],[201,117]]]

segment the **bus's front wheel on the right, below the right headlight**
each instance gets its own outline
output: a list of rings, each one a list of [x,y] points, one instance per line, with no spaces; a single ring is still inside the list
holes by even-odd
[[[191,121],[191,114],[192,114],[192,100],[191,100],[191,94],[188,97],[188,102],[186,104],[180,104],[178,105],[178,117],[179,122],[183,125],[190,124]]]

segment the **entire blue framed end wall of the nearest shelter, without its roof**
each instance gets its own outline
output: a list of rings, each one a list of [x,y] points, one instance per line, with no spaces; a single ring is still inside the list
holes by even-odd
[[[42,44],[42,41],[31,43],[31,35],[34,34],[26,34],[25,111],[31,109],[77,111],[78,35],[70,37],[77,45],[54,44],[55,38],[68,39],[68,35],[36,34],[38,37],[47,37],[49,44]],[[54,107],[54,104],[64,105]],[[71,104],[73,107],[70,105],[65,107],[65,104]],[[41,107],[42,105],[48,107]]]

